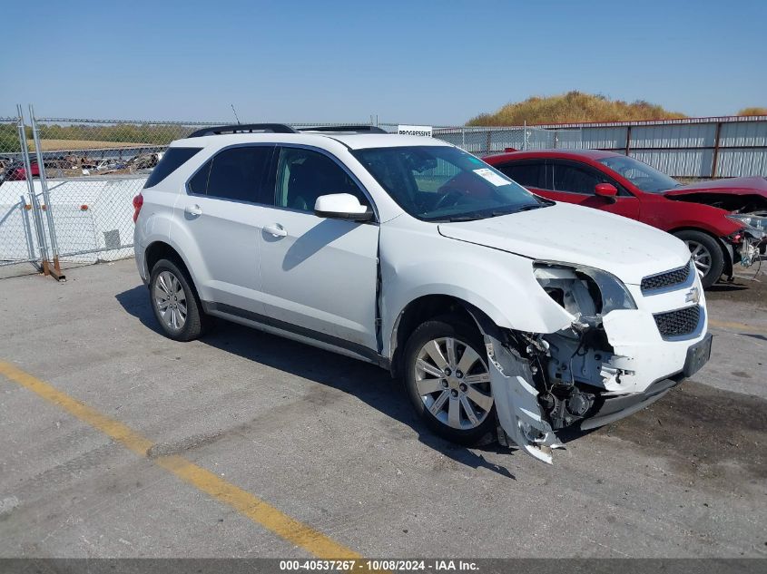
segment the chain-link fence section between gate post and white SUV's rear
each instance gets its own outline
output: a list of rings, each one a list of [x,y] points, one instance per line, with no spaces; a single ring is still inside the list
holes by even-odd
[[[44,164],[55,257],[64,265],[133,255],[133,197],[171,141],[211,122],[121,122],[31,118]]]

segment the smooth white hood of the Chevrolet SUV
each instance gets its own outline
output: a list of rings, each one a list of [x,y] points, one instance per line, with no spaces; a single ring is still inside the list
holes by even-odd
[[[682,267],[690,251],[674,236],[633,219],[568,203],[497,218],[440,223],[447,238],[526,258],[603,269],[624,283]]]

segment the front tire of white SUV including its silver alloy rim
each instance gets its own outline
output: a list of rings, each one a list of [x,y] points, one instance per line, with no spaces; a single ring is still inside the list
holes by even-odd
[[[487,352],[476,326],[450,316],[429,320],[408,339],[403,361],[408,398],[431,430],[459,444],[475,444],[494,430]]]

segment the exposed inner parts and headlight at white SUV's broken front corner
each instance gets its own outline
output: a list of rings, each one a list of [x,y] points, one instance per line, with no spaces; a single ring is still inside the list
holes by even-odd
[[[503,369],[496,362],[497,368],[506,375],[520,368],[525,371],[521,376],[531,381],[536,391],[532,393],[536,404],[525,410],[539,411],[544,419],[536,422],[533,416],[529,424],[523,424],[522,433],[539,448],[556,448],[561,445],[554,431],[594,414],[603,403],[603,395],[620,394],[621,378],[634,375],[627,368],[632,359],[615,355],[602,316],[614,309],[634,309],[635,304],[622,284],[598,269],[542,264],[536,266],[536,279],[575,320],[553,334],[506,331],[503,341],[490,337],[488,356],[491,362],[496,361],[494,355],[500,360],[497,345],[501,345],[513,355],[516,365]],[[497,392],[496,387],[493,391]],[[504,401],[497,400],[496,404]]]

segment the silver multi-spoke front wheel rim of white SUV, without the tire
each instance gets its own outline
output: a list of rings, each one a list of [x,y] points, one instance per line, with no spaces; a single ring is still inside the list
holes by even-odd
[[[414,368],[421,401],[440,423],[467,431],[487,419],[490,373],[471,346],[453,337],[433,339],[418,351]]]

